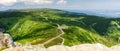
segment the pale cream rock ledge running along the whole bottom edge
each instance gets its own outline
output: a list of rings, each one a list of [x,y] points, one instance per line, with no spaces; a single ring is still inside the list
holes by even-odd
[[[75,45],[72,47],[64,46],[64,45],[55,45],[49,48],[41,47],[39,45],[25,45],[20,47],[8,48],[3,51],[119,51],[120,45],[113,46],[108,48],[102,44],[81,44]]]

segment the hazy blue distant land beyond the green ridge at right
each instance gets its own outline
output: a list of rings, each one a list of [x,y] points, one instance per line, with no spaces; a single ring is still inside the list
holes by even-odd
[[[88,15],[103,16],[103,17],[108,17],[108,18],[120,17],[119,10],[69,10],[68,9],[67,11],[85,13]]]

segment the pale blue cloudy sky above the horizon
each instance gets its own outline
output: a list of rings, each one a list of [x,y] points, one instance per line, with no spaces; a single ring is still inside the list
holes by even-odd
[[[120,10],[120,0],[0,0],[0,10],[26,8]]]

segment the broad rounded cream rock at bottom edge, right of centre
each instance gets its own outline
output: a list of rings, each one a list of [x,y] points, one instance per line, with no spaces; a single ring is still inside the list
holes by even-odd
[[[109,51],[109,48],[102,44],[82,44],[72,46],[71,51]]]

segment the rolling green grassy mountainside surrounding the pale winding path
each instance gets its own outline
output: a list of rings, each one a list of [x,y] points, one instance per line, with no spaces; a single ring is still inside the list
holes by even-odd
[[[40,44],[59,35],[57,24],[68,26],[64,29],[64,45],[102,43],[107,46],[120,43],[120,19],[104,18],[83,13],[57,9],[21,9],[0,12],[0,28],[6,30],[14,41]],[[117,33],[116,33],[117,32]],[[46,46],[60,44],[57,38]]]

